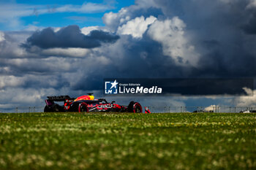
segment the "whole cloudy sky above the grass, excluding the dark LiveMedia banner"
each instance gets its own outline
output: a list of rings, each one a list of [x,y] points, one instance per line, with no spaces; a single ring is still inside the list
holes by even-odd
[[[102,97],[105,77],[255,77],[255,63],[255,0],[0,1],[0,108]],[[256,106],[254,96],[135,99]]]

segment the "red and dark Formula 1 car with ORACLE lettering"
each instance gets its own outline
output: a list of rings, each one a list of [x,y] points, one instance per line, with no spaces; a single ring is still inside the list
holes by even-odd
[[[64,105],[54,101],[64,101]],[[88,96],[70,98],[69,96],[48,96],[45,100],[44,112],[143,112],[138,102],[131,101],[128,106],[108,103],[105,98],[94,99],[91,93]]]

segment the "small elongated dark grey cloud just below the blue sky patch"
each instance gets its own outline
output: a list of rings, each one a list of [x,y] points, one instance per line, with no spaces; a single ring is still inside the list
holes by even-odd
[[[36,31],[22,46],[29,48],[35,45],[43,49],[54,47],[94,48],[101,46],[102,42],[113,43],[117,39],[119,39],[119,36],[105,31],[94,30],[89,35],[84,35],[78,26],[67,26],[57,32],[54,32],[53,28]]]

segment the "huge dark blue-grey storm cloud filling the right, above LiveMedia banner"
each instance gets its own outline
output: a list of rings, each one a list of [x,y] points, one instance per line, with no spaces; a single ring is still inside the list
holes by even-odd
[[[143,12],[146,14],[143,15],[144,17],[150,16],[148,9],[152,8],[157,9],[152,15],[158,16],[158,20],[167,20],[176,16],[183,20],[186,24],[184,28],[186,36],[200,54],[198,64],[178,66],[173,58],[163,54],[162,45],[148,37],[146,32],[141,39],[122,35],[120,42],[129,42],[127,47],[121,49],[123,58],[118,59],[116,62],[118,65],[104,66],[102,69],[104,72],[95,72],[95,74],[100,79],[104,77],[256,77],[256,50],[254,50],[256,37],[253,35],[256,24],[253,10],[247,9],[249,3],[250,1],[242,0],[159,0],[154,1],[154,7],[149,5],[146,9],[128,7],[126,15],[133,17],[130,20],[140,17]],[[121,12],[116,18],[125,18],[123,15]],[[113,30],[118,28],[113,26],[110,26]],[[113,54],[105,51],[104,55]],[[78,81],[74,88],[101,89],[102,82],[91,79],[94,75]]]

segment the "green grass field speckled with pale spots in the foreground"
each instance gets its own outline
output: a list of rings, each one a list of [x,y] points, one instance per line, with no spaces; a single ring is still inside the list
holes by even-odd
[[[256,169],[256,114],[0,113],[0,169]]]

